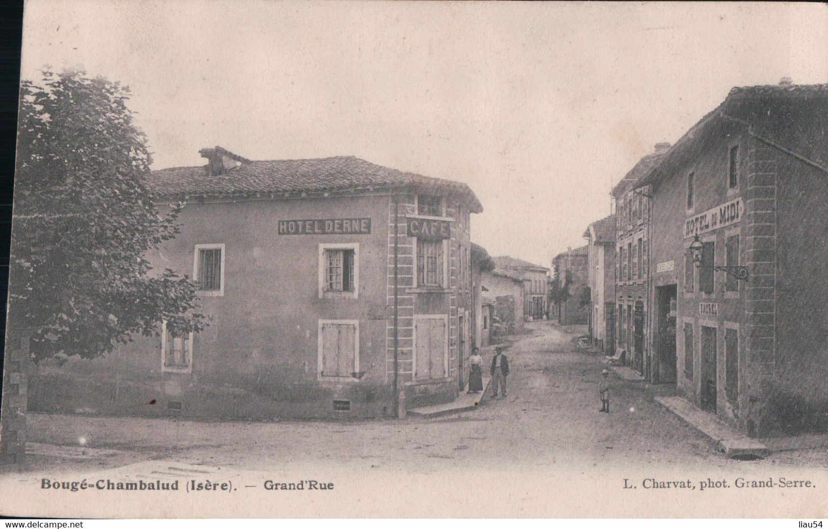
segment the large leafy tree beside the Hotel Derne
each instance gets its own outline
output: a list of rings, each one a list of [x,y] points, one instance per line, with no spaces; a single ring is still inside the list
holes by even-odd
[[[9,328],[32,360],[91,358],[132,336],[200,331],[196,284],[153,270],[147,252],[179,232],[145,183],[152,157],[129,90],[84,72],[23,81],[18,122]]]

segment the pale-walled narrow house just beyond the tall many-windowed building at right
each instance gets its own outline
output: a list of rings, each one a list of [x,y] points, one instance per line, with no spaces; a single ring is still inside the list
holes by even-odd
[[[615,217],[595,221],[586,229],[589,269],[587,287],[592,310],[589,330],[592,345],[614,352],[615,347]]]

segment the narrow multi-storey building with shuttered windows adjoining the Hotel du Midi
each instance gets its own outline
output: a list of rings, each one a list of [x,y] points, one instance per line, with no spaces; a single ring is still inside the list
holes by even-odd
[[[647,362],[647,278],[649,276],[650,189],[635,183],[662,160],[669,143],[657,143],[655,152],[643,156],[615,185],[616,264],[615,319],[616,347],[626,351],[624,363],[638,374],[648,375]]]

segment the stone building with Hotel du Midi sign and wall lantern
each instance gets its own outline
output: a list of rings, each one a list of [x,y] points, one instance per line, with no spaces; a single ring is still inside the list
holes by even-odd
[[[636,186],[653,379],[749,436],[828,426],[826,107],[825,84],[733,88]]]

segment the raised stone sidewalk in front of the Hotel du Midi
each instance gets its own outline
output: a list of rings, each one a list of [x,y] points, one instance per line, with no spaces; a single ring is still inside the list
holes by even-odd
[[[768,455],[768,447],[759,441],[740,434],[733,427],[721,422],[712,413],[700,410],[681,397],[656,397],[656,402],[666,407],[685,422],[715,442],[716,448],[730,459],[758,459]]]

